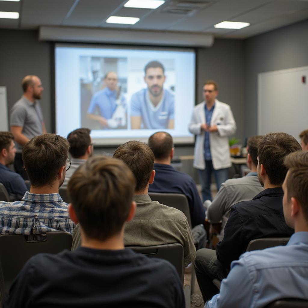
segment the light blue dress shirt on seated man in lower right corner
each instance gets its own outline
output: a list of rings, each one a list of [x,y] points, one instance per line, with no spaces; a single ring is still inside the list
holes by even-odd
[[[205,307],[261,308],[281,298],[308,300],[308,232],[294,233],[286,246],[243,253]]]

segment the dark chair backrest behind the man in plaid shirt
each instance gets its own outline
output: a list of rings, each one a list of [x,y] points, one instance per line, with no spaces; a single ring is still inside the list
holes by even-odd
[[[14,278],[26,261],[38,253],[58,253],[64,249],[71,250],[72,235],[67,232],[47,232],[43,241],[26,241],[25,235],[0,235],[0,278],[2,290],[9,291]]]

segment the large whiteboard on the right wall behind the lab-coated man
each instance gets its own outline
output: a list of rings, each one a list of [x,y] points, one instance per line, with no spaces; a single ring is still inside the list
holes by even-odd
[[[302,82],[306,76],[306,83]],[[308,129],[308,66],[258,74],[258,134]]]

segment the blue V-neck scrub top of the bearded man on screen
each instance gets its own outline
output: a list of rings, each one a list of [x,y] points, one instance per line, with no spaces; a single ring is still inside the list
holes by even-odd
[[[148,97],[148,89],[132,95],[131,115],[141,116],[141,128],[168,128],[169,120],[174,119],[174,95],[164,89],[164,95],[155,107]]]

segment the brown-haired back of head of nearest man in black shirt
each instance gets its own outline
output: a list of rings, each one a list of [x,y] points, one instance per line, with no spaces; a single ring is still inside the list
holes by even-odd
[[[124,162],[106,156],[91,157],[75,171],[67,189],[87,237],[104,241],[121,231],[135,183]]]

